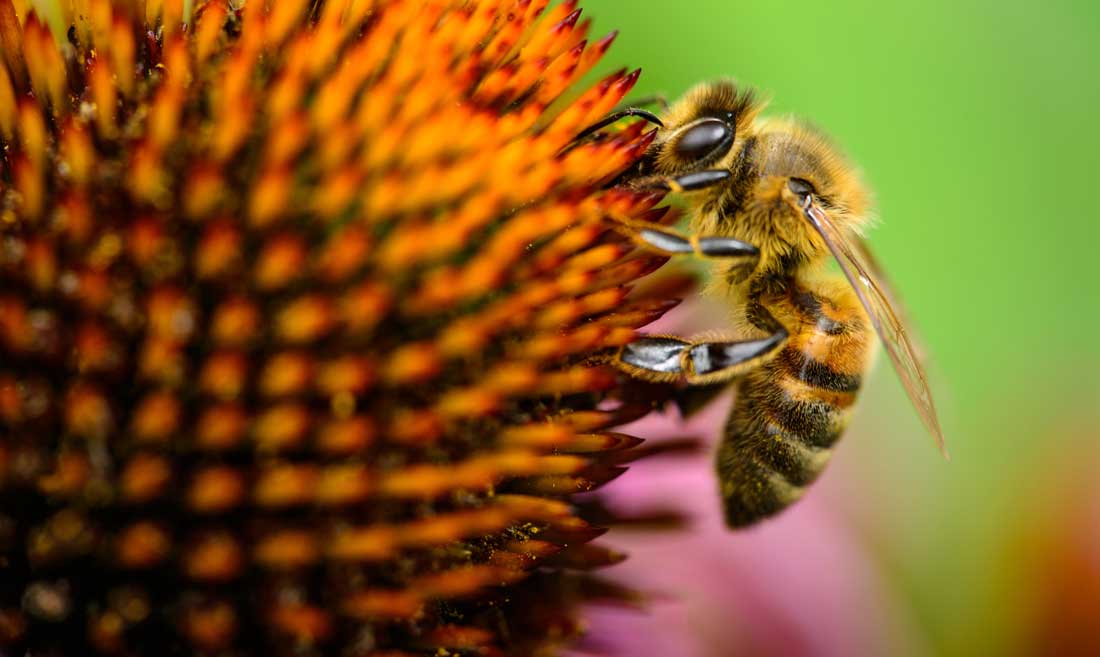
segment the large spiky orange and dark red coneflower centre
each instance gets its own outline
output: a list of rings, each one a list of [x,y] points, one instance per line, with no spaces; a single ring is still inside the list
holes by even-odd
[[[572,3],[0,0],[0,651],[542,654],[669,307]]]

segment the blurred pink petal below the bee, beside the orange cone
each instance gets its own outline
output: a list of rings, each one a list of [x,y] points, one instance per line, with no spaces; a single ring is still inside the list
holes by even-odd
[[[713,441],[728,407],[726,395],[689,423],[673,414],[627,430]],[[678,657],[926,653],[870,550],[831,508],[827,481],[778,518],[734,533],[722,521],[711,459],[708,452],[644,460],[605,489],[627,515],[673,506],[693,523],[673,532],[614,533],[630,558],[609,573],[654,600],[647,612],[591,610],[584,649]]]

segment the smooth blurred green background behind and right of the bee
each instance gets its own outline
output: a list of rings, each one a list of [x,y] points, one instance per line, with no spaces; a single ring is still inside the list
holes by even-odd
[[[597,34],[620,30],[603,70],[641,66],[635,96],[732,76],[864,168],[881,217],[871,243],[933,354],[953,460],[880,364],[826,477],[935,654],[1013,654],[1027,582],[1047,567],[1016,554],[1045,513],[1027,510],[1055,499],[1041,482],[1065,462],[1100,464],[1100,6],[583,9]]]

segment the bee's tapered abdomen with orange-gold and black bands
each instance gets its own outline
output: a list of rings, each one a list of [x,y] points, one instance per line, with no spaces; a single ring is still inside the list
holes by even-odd
[[[738,385],[717,458],[729,526],[750,525],[799,500],[848,425],[867,340],[858,322],[813,319]]]

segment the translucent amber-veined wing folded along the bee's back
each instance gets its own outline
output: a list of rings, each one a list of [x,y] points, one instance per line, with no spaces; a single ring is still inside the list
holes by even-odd
[[[868,317],[871,318],[875,332],[879,335],[887,353],[890,354],[894,370],[901,377],[910,401],[916,407],[921,421],[935,438],[944,458],[948,458],[944,431],[936,415],[936,404],[932,401],[928,379],[924,368],[921,366],[922,354],[913,346],[905,329],[904,309],[898,303],[898,297],[890,291],[886,277],[879,272],[873,256],[861,240],[847,237],[833,223],[828,215],[812,201],[807,201],[803,209],[810,223],[825,240],[825,245],[833,253],[833,258],[840,265],[840,271],[848,278]]]

